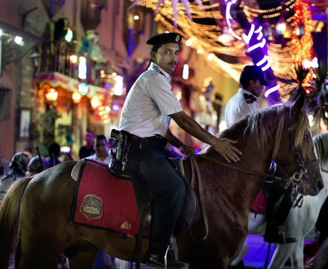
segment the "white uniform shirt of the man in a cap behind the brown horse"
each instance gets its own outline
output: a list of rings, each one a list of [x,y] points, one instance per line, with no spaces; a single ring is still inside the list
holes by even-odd
[[[225,125],[227,128],[248,114],[260,110],[259,99],[253,95],[256,98],[256,101],[248,103],[244,97],[245,93],[253,95],[252,93],[239,88],[238,92],[228,101],[224,111]]]

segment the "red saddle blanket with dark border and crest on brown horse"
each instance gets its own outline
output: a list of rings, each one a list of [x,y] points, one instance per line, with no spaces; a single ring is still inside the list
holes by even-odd
[[[112,176],[106,163],[85,159],[75,186],[70,223],[136,236],[140,217],[132,181]]]

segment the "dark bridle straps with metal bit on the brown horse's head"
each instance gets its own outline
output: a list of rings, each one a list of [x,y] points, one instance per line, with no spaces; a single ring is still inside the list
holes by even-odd
[[[288,140],[290,141],[291,151],[294,155],[294,158],[297,162],[298,167],[295,170],[295,172],[293,173],[293,175],[288,179],[288,181],[285,185],[285,189],[288,188],[288,186],[292,183],[292,181],[299,182],[301,180],[303,174],[305,174],[307,172],[307,168],[320,163],[319,159],[314,159],[314,160],[306,162],[306,163],[303,162],[300,152],[298,151],[298,149],[295,148],[295,139],[293,139],[293,137],[291,135],[292,131],[293,131],[293,128],[291,128],[291,127],[288,128],[287,136],[288,136]]]

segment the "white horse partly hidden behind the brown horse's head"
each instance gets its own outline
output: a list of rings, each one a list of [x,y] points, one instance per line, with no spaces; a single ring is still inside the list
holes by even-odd
[[[296,238],[296,243],[278,244],[269,269],[281,269],[291,258],[293,269],[304,269],[303,248],[304,238],[316,224],[322,204],[328,196],[328,132],[313,138],[317,155],[321,162],[324,188],[318,196],[304,196],[301,208],[293,207],[286,219],[286,232],[288,237]],[[265,231],[265,216],[249,213],[248,234],[263,234]],[[248,246],[244,243],[240,254],[230,263],[238,264],[246,255]]]

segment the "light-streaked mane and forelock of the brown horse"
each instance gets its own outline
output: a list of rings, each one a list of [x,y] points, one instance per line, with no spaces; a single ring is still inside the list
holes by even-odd
[[[216,137],[236,139],[237,135],[243,133],[244,138],[250,138],[248,142],[255,142],[263,150],[267,150],[269,141],[275,142],[274,159],[279,153],[279,144],[282,130],[285,126],[285,119],[291,118],[291,112],[291,107],[287,105],[263,109],[245,116],[230,128],[217,134]],[[297,126],[295,137],[295,147],[297,148],[301,146],[304,131],[308,127],[308,118],[304,109],[298,114],[298,122],[293,123]],[[277,132],[275,133],[274,130],[277,130]],[[206,146],[200,154],[206,153],[210,148],[210,146]]]

